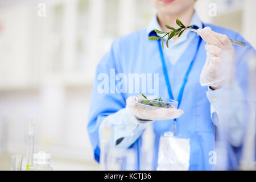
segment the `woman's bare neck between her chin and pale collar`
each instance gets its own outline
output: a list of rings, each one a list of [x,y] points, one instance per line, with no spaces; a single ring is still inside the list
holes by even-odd
[[[163,31],[169,32],[170,30],[164,27],[165,24],[168,24],[169,26],[174,28],[179,28],[179,26],[177,26],[176,24],[176,19],[178,18],[185,26],[188,26],[189,23],[191,22],[193,14],[194,14],[193,6],[177,14],[162,14],[159,12],[157,14],[158,23]],[[177,39],[177,36],[174,37],[174,40],[176,39]]]

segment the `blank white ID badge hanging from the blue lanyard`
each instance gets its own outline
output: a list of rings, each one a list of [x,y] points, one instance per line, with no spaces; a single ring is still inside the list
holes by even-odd
[[[190,158],[190,139],[180,138],[168,131],[160,137],[158,171],[187,171]]]

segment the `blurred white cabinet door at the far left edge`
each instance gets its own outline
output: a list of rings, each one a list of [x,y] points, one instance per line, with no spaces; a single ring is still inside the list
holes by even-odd
[[[18,16],[17,16],[18,15]],[[0,89],[32,84],[31,29],[27,6],[1,10]]]

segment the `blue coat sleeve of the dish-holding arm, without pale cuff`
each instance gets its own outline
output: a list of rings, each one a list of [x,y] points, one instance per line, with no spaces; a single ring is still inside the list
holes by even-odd
[[[88,113],[87,131],[92,144],[94,159],[100,162],[100,143],[98,128],[108,115],[116,113],[126,105],[122,94],[115,93],[115,85],[111,80],[110,70],[117,72],[116,60],[118,57],[118,44],[114,42],[108,53],[106,53],[97,65],[96,76],[93,84],[90,107]]]

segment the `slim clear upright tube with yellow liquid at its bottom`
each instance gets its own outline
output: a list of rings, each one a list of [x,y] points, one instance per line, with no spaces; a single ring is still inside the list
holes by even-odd
[[[27,143],[27,168],[26,171],[30,170],[33,162],[34,154],[34,139],[35,139],[35,123],[33,119],[28,125],[28,143]]]

